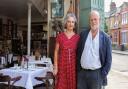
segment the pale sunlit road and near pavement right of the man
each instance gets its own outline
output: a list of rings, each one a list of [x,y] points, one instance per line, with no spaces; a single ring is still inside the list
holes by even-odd
[[[128,89],[128,55],[112,54],[112,69],[105,89]]]

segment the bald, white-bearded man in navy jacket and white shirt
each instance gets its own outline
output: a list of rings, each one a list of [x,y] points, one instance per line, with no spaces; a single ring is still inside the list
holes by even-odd
[[[77,89],[101,89],[111,67],[111,41],[107,34],[99,29],[98,11],[90,12],[90,29],[80,34],[77,51]]]

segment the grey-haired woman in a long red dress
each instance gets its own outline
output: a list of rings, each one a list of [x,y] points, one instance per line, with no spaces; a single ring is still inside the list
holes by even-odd
[[[64,20],[65,31],[56,38],[54,51],[55,89],[76,89],[76,48],[79,35],[75,33],[76,17],[68,13]]]

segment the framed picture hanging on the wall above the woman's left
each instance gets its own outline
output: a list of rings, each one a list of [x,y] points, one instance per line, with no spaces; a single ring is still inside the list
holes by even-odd
[[[64,0],[51,2],[51,17],[61,18],[64,16]]]

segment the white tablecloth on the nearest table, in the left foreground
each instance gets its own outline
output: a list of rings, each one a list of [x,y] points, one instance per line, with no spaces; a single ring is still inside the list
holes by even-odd
[[[37,84],[41,84],[41,81],[38,81],[35,79],[35,77],[38,76],[45,76],[46,72],[48,71],[48,67],[42,67],[42,68],[31,68],[31,69],[2,69],[0,70],[0,73],[3,73],[4,75],[9,75],[10,77],[16,77],[16,76],[22,76],[22,78],[17,81],[14,85],[15,86],[21,86],[26,89],[33,89],[33,86]]]

